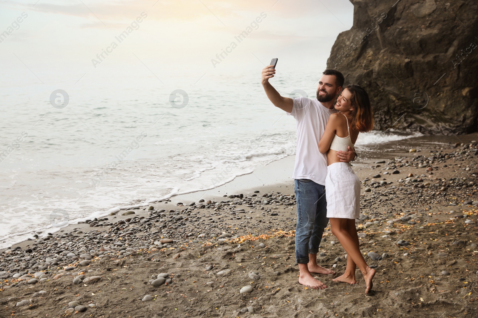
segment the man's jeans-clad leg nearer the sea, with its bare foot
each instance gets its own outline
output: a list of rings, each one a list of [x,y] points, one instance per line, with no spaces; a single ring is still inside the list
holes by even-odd
[[[325,288],[309,272],[309,242],[315,222],[315,211],[319,197],[318,187],[312,180],[295,180],[297,200],[297,226],[295,228],[295,259],[299,265],[299,284],[312,288]]]

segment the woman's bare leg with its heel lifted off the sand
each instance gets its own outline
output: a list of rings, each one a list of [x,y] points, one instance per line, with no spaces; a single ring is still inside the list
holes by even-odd
[[[332,234],[338,238],[340,244],[346,250],[347,259],[351,258],[351,260],[359,267],[360,271],[362,272],[362,275],[365,279],[365,284],[367,285],[365,293],[368,294],[373,286],[372,278],[375,275],[375,270],[368,267],[362,256],[362,253],[360,253],[359,239],[357,237],[357,231],[355,230],[355,224],[353,224],[353,233],[351,233],[352,230],[349,219],[331,217],[329,220]]]

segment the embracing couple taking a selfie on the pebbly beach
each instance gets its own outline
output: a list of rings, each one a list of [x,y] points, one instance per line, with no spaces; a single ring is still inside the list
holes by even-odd
[[[360,253],[355,228],[360,211],[360,180],[349,162],[355,159],[354,144],[359,132],[373,128],[369,96],[359,85],[348,85],[342,90],[342,73],[327,69],[319,80],[316,99],[282,97],[269,83],[274,74],[273,65],[262,70],[261,82],[267,97],[297,121],[293,179],[297,200],[295,257],[300,270],[298,283],[323,289],[327,286],[311,273],[335,274],[317,265],[316,260],[322,234],[330,220],[332,233],[347,252],[345,273],[334,281],[355,284],[358,266],[368,294],[375,270],[367,266]]]

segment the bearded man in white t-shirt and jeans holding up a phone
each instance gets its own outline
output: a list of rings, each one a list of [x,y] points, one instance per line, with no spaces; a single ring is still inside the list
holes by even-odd
[[[297,121],[297,151],[293,179],[295,179],[295,197],[297,200],[297,226],[295,229],[295,258],[299,264],[301,285],[323,289],[327,286],[312,277],[313,274],[335,274],[334,271],[317,265],[317,252],[322,234],[328,224],[325,179],[327,158],[319,151],[318,143],[331,113],[335,113],[334,101],[344,84],[344,75],[336,70],[327,69],[317,86],[317,98],[287,98],[269,83],[274,77],[273,65],[262,70],[262,86],[269,100],[292,115]],[[355,153],[337,153],[342,162],[350,162]]]

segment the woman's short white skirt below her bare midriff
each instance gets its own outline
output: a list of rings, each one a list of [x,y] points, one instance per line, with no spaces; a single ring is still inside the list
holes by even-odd
[[[350,164],[327,166],[327,217],[357,219],[360,215],[360,180]]]

